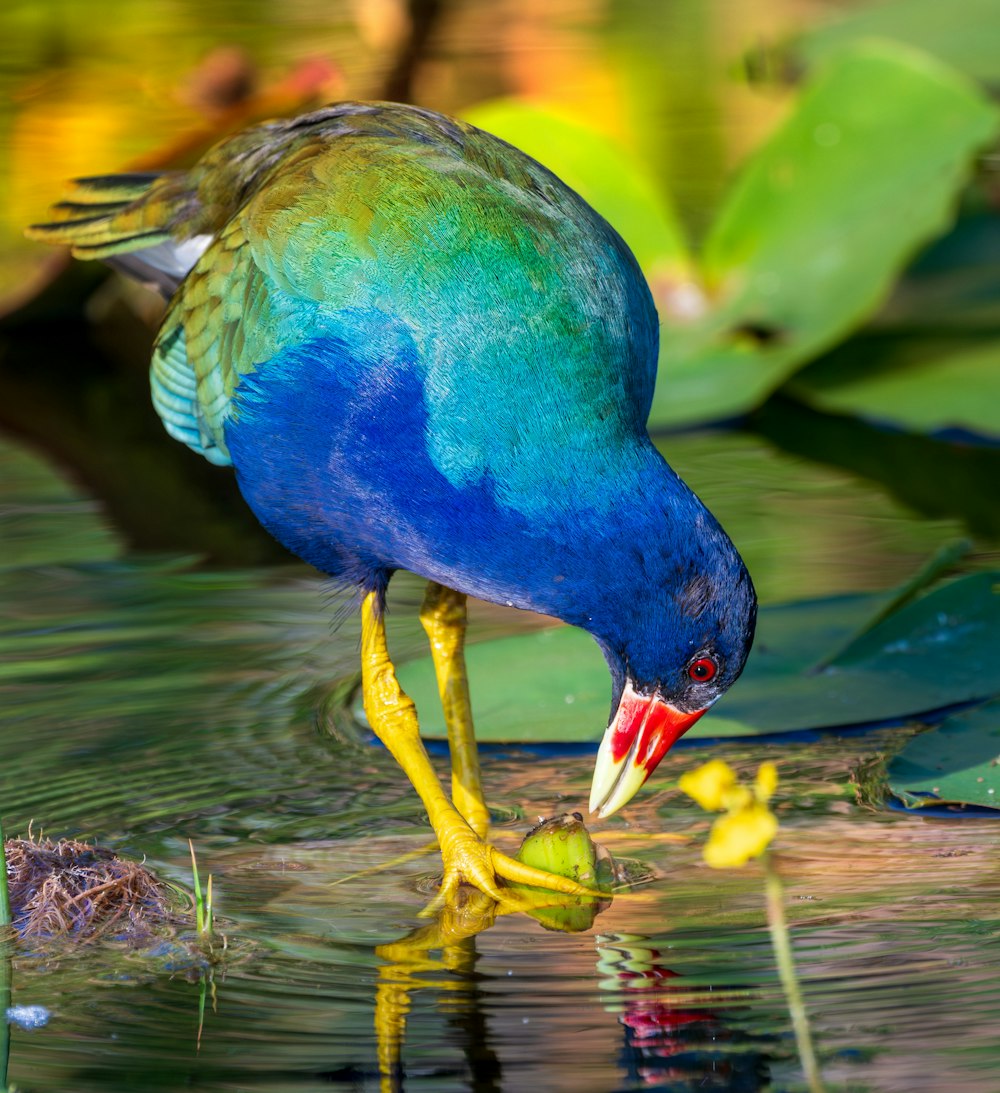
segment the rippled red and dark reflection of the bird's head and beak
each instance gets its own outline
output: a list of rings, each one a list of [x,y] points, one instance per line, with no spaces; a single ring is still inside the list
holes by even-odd
[[[622,1063],[630,1085],[727,1093],[769,1089],[760,1041],[729,1027],[718,1012],[725,1004],[731,1013],[731,995],[690,986],[663,965],[649,940],[598,937],[602,997],[625,1033]]]

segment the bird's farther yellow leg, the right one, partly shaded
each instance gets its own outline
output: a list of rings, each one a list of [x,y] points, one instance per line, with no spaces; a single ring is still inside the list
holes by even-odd
[[[483,799],[479,752],[472,728],[472,703],[466,675],[466,596],[431,581],[420,612],[431,642],[437,690],[448,726],[451,752],[451,802],[469,826],[485,838],[490,810]]]

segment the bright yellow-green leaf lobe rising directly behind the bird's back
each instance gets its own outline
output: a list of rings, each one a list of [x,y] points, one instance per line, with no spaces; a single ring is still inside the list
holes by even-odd
[[[523,99],[502,98],[463,111],[554,171],[611,224],[651,279],[683,277],[681,228],[648,166],[591,126]]]

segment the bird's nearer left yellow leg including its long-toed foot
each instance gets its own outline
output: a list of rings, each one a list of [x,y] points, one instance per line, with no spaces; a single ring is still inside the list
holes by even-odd
[[[385,619],[380,598],[369,592],[362,603],[361,670],[365,713],[379,740],[403,768],[427,810],[437,836],[445,877],[440,901],[450,901],[463,881],[503,900],[498,880],[534,884],[566,895],[591,895],[565,877],[525,866],[484,842],[448,800],[420,739],[416,709],[396,679],[396,669],[386,647]]]

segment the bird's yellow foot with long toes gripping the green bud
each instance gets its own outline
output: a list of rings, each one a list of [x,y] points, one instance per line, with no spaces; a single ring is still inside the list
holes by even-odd
[[[543,869],[526,866],[508,857],[495,846],[480,838],[467,824],[449,826],[439,832],[442,859],[445,875],[437,896],[423,910],[423,915],[434,915],[443,906],[455,901],[461,884],[471,884],[484,895],[506,903],[513,893],[504,882],[530,884],[549,892],[567,896],[591,896],[607,900],[607,894],[584,888],[567,877],[548,873]]]

